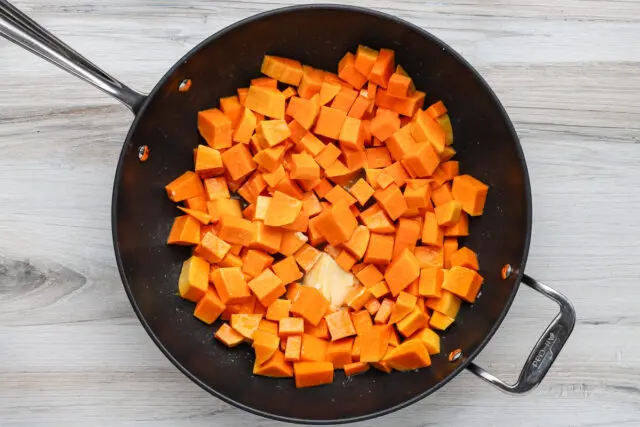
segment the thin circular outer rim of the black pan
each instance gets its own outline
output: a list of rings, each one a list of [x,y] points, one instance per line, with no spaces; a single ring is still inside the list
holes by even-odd
[[[408,29],[411,29],[411,30],[419,33],[423,37],[425,37],[425,38],[429,39],[430,41],[432,41],[433,43],[437,44],[443,50],[446,50],[457,61],[459,61],[463,66],[465,66],[467,69],[469,69],[469,71],[471,71],[471,73],[475,76],[475,78],[478,80],[478,82],[481,83],[481,85],[485,88],[485,90],[487,91],[489,96],[492,98],[492,100],[498,106],[498,109],[499,109],[500,113],[502,114],[510,133],[512,134],[512,137],[513,137],[513,139],[515,141],[515,145],[516,145],[515,149],[516,149],[516,152],[518,154],[518,158],[520,160],[522,171],[523,171],[523,177],[524,177],[523,184],[524,184],[524,190],[525,190],[524,196],[525,196],[525,199],[527,201],[526,218],[525,218],[526,228],[527,229],[526,229],[526,233],[525,233],[525,240],[523,242],[523,244],[524,244],[523,255],[522,255],[522,259],[520,260],[520,263],[519,263],[519,268],[518,268],[518,272],[517,272],[517,276],[516,276],[515,286],[513,287],[513,290],[511,292],[511,294],[507,298],[507,302],[504,305],[504,308],[502,309],[502,312],[500,313],[500,316],[498,317],[496,322],[493,324],[493,326],[489,330],[489,333],[485,336],[483,341],[475,349],[475,351],[470,353],[465,358],[465,360],[459,366],[457,366],[449,375],[447,375],[445,378],[440,380],[433,387],[425,390],[424,392],[418,394],[417,396],[414,396],[414,397],[412,397],[412,398],[410,398],[410,399],[408,399],[408,400],[406,400],[406,401],[404,401],[404,402],[402,402],[400,404],[397,404],[395,406],[392,406],[392,407],[389,407],[389,408],[385,408],[385,409],[382,409],[382,410],[379,410],[379,411],[376,411],[376,412],[371,412],[369,414],[359,415],[359,416],[355,416],[355,417],[340,418],[340,419],[326,419],[326,420],[304,419],[304,418],[301,419],[301,418],[293,418],[293,417],[287,417],[287,416],[278,415],[278,414],[275,414],[275,413],[265,412],[265,411],[262,411],[262,410],[247,406],[247,405],[245,405],[245,404],[243,404],[241,402],[238,402],[238,401],[236,401],[236,400],[234,400],[234,399],[232,399],[232,398],[220,393],[219,391],[215,390],[214,388],[212,388],[211,386],[205,384],[203,381],[201,381],[199,378],[197,378],[193,373],[191,373],[191,371],[189,371],[178,360],[176,360],[175,357],[169,352],[169,350],[167,350],[167,348],[163,345],[162,342],[160,342],[159,338],[155,335],[155,333],[153,332],[153,330],[151,329],[151,327],[147,323],[146,319],[144,318],[144,316],[143,316],[143,314],[142,314],[142,312],[140,310],[140,307],[138,306],[138,304],[137,304],[137,302],[135,300],[135,297],[133,296],[133,293],[131,291],[131,286],[129,285],[129,281],[128,281],[127,276],[126,276],[125,271],[124,271],[124,266],[123,266],[123,263],[122,263],[122,256],[121,256],[120,248],[119,248],[119,239],[118,239],[118,235],[117,235],[117,224],[118,224],[117,205],[118,205],[118,196],[119,196],[119,189],[120,189],[119,184],[120,184],[120,182],[122,180],[122,174],[123,174],[124,157],[125,157],[125,155],[127,153],[127,147],[129,146],[129,144],[131,142],[132,135],[133,135],[134,130],[136,129],[136,127],[138,125],[140,117],[142,117],[144,115],[145,110],[149,105],[149,100],[152,99],[156,95],[156,93],[160,90],[160,88],[163,85],[163,83],[166,80],[168,80],[183,63],[188,61],[189,58],[191,58],[200,49],[204,48],[205,46],[209,45],[210,43],[214,43],[215,40],[217,40],[221,36],[223,36],[223,35],[225,35],[225,34],[227,34],[229,32],[232,32],[237,28],[243,27],[245,25],[252,24],[254,22],[260,21],[262,19],[265,19],[265,18],[268,18],[268,17],[271,17],[271,16],[280,15],[280,14],[286,14],[286,13],[291,13],[291,12],[297,12],[297,11],[301,11],[301,10],[334,10],[334,11],[354,12],[354,13],[359,13],[359,14],[364,14],[364,15],[374,16],[374,17],[377,17],[377,18],[386,19],[386,20],[389,20],[389,21],[404,25]],[[383,415],[390,414],[392,412],[396,412],[396,411],[398,411],[400,409],[408,407],[409,405],[417,403],[418,401],[424,399],[425,397],[435,393],[441,387],[443,387],[445,384],[447,384],[449,381],[451,381],[454,377],[456,377],[458,374],[460,374],[464,369],[466,369],[467,366],[473,361],[473,359],[475,359],[477,357],[477,355],[485,348],[485,346],[489,343],[489,341],[491,341],[491,338],[493,338],[493,336],[495,335],[497,330],[500,328],[502,322],[504,321],[507,313],[509,312],[509,310],[511,308],[511,305],[513,304],[513,300],[515,299],[515,296],[516,296],[516,294],[518,292],[518,289],[520,287],[520,282],[522,280],[522,276],[524,275],[526,262],[527,262],[527,258],[528,258],[528,255],[529,255],[529,248],[530,248],[530,243],[531,243],[532,222],[533,221],[532,221],[531,184],[530,184],[530,178],[529,178],[529,171],[528,171],[528,168],[527,168],[527,163],[526,163],[526,160],[525,160],[525,156],[524,156],[524,151],[522,149],[522,145],[520,143],[520,139],[518,138],[518,134],[517,134],[517,132],[515,130],[515,127],[513,126],[513,123],[511,121],[511,119],[509,118],[509,115],[507,114],[504,106],[502,105],[502,103],[498,99],[498,97],[495,94],[495,92],[493,91],[493,89],[489,86],[489,84],[486,82],[486,80],[480,75],[480,73],[464,57],[462,57],[462,55],[460,55],[457,51],[452,49],[448,44],[446,44],[445,42],[440,40],[438,37],[436,37],[433,34],[431,34],[430,32],[428,32],[427,30],[419,27],[418,25],[415,25],[415,24],[413,24],[411,22],[408,22],[408,21],[406,21],[404,19],[398,18],[398,17],[396,17],[394,15],[390,15],[390,14],[385,13],[385,12],[380,12],[378,10],[359,7],[359,6],[348,6],[348,5],[338,5],[338,4],[296,5],[296,6],[287,6],[287,7],[282,7],[282,8],[277,8],[277,9],[272,9],[272,10],[268,10],[268,11],[265,11],[265,12],[261,12],[261,13],[249,16],[247,18],[244,18],[244,19],[242,19],[240,21],[237,21],[237,22],[235,22],[235,23],[233,23],[233,24],[231,24],[231,25],[219,30],[218,32],[216,32],[213,35],[207,37],[206,39],[204,39],[203,41],[198,43],[196,46],[194,46],[192,49],[190,49],[184,56],[182,56],[182,58],[180,58],[162,76],[162,78],[160,80],[158,80],[158,83],[156,83],[154,88],[151,90],[149,95],[144,100],[144,103],[141,106],[140,110],[135,114],[135,118],[134,118],[134,120],[133,120],[133,122],[132,122],[132,124],[131,124],[131,126],[129,128],[129,131],[127,133],[127,136],[126,136],[126,138],[124,140],[124,144],[122,146],[122,150],[120,152],[120,156],[118,157],[118,165],[117,165],[116,172],[115,172],[114,183],[113,183],[113,191],[112,191],[112,198],[111,198],[111,233],[112,233],[112,239],[113,239],[114,252],[115,252],[115,256],[116,256],[116,263],[117,263],[117,266],[118,266],[118,272],[120,274],[120,279],[122,281],[122,285],[124,287],[124,290],[125,290],[125,292],[127,294],[127,298],[129,299],[129,302],[130,302],[130,304],[131,304],[131,306],[133,308],[133,311],[135,312],[138,320],[142,324],[143,328],[145,329],[145,331],[147,332],[147,334],[149,335],[151,340],[160,349],[160,351],[164,354],[164,356],[176,368],[178,368],[178,370],[180,372],[182,372],[187,378],[189,378],[191,381],[193,381],[195,384],[200,386],[202,389],[206,390],[211,395],[213,395],[214,397],[222,400],[223,402],[226,402],[228,404],[231,404],[231,405],[235,406],[236,408],[242,409],[242,410],[247,411],[249,413],[252,413],[252,414],[255,414],[255,415],[258,415],[258,416],[262,416],[262,417],[265,417],[265,418],[270,418],[270,419],[277,420],[277,421],[282,421],[282,422],[307,424],[307,425],[346,424],[346,423],[352,423],[352,422],[358,422],[358,421],[366,421],[366,420],[370,420],[370,419],[373,419],[373,418],[381,417]]]

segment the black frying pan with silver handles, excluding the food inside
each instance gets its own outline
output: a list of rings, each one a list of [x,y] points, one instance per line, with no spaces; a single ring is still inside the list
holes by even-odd
[[[180,59],[147,96],[91,64],[5,0],[0,0],[0,34],[112,95],[134,113],[113,186],[118,269],[131,305],[156,345],[214,396],[282,421],[334,424],[400,409],[433,393],[463,369],[505,392],[520,394],[540,383],[571,334],[571,303],[524,275],[531,190],[511,121],[471,65],[426,31],[363,8],[279,9],[211,36]],[[434,356],[432,367],[391,375],[374,370],[353,378],[338,371],[331,385],[296,390],[290,379],[253,376],[250,350],[229,350],[213,342],[213,329],[193,317],[192,304],[176,296],[180,266],[189,250],[165,245],[177,211],[164,186],[192,167],[192,149],[201,142],[197,112],[257,77],[265,53],[333,69],[359,43],[394,49],[416,85],[426,88],[427,102],[444,100],[463,172],[490,185],[485,214],[471,221],[464,241],[478,253],[485,284],[477,302],[464,305],[455,324],[442,334],[442,352]],[[150,152],[146,162],[138,157],[143,146]],[[500,326],[520,283],[558,303],[560,311],[534,345],[516,383],[506,384],[472,360]],[[459,357],[447,357],[450,353]]]

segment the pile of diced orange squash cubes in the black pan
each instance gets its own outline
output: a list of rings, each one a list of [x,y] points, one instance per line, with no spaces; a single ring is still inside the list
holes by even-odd
[[[423,109],[389,49],[359,46],[337,74],[265,56],[262,73],[199,112],[206,145],[166,187],[184,205],[168,243],[194,247],[180,295],[253,347],[254,374],[296,387],[429,366],[483,283],[458,239],[488,187],[452,160],[445,105]],[[300,284],[321,251],[359,283],[337,310]]]

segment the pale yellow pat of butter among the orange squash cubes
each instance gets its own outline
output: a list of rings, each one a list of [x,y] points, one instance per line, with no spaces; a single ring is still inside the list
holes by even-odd
[[[304,276],[303,284],[322,292],[331,303],[331,308],[337,309],[345,305],[344,300],[356,282],[357,279],[353,274],[344,271],[333,258],[323,252]]]

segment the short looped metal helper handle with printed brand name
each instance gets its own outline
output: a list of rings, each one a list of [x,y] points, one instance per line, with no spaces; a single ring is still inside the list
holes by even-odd
[[[507,384],[475,363],[470,363],[468,366],[471,372],[510,394],[526,393],[540,384],[554,360],[558,357],[560,350],[569,339],[569,335],[571,335],[573,326],[576,323],[576,311],[564,295],[526,274],[522,277],[522,282],[557,302],[560,306],[560,313],[549,324],[542,337],[533,347],[518,380],[515,384]]]

